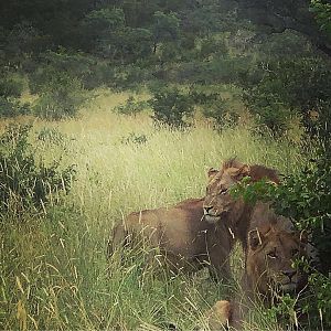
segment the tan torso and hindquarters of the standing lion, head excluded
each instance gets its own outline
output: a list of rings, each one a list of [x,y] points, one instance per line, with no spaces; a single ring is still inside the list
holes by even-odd
[[[231,277],[228,252],[233,239],[224,236],[221,224],[206,222],[203,197],[189,199],[166,209],[130,213],[115,226],[108,242],[108,256],[120,246],[147,242],[158,248],[172,271],[192,273],[207,267],[214,279]],[[159,257],[158,257],[159,258]]]

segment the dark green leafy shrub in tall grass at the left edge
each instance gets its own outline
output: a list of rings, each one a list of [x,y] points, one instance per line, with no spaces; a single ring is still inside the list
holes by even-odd
[[[74,166],[60,170],[60,160],[46,167],[39,164],[29,143],[31,126],[10,125],[0,136],[0,210],[20,212],[40,210],[50,194],[68,192],[75,174]]]

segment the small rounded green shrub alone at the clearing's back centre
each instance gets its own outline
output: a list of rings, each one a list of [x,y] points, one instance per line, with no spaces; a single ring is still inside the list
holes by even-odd
[[[175,87],[153,87],[149,105],[153,110],[152,119],[171,128],[186,127],[193,114],[193,103],[188,94]]]

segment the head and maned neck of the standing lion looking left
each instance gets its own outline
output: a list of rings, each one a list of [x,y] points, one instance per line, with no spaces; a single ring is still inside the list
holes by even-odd
[[[276,185],[280,182],[274,169],[260,164],[248,166],[231,159],[223,163],[221,170],[209,171],[209,183],[203,203],[206,222],[223,223],[227,228],[227,235],[238,239],[244,250],[247,246],[246,234],[253,205],[245,203],[243,199],[233,199],[228,191],[245,177],[248,177],[252,182],[263,179]]]

